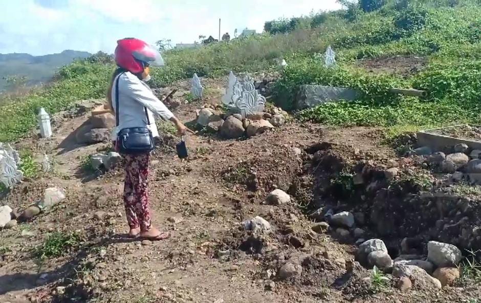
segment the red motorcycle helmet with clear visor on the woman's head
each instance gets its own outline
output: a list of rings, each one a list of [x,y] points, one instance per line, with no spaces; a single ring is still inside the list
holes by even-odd
[[[151,66],[164,65],[164,60],[155,47],[136,38],[125,38],[117,41],[115,62],[119,67],[133,74],[142,73],[145,63]]]

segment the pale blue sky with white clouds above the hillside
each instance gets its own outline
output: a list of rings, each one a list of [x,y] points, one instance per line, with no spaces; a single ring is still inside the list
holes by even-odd
[[[191,43],[199,35],[248,27],[340,6],[335,0],[0,0],[0,53],[44,55],[65,49],[112,53],[116,40]]]

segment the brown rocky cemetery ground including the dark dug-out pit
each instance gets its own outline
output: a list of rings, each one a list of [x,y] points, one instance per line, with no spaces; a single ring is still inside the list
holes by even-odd
[[[195,121],[202,104],[221,102],[218,88],[225,85],[206,80],[200,103],[191,100],[187,82],[176,83],[182,102],[174,113]],[[84,101],[55,115],[52,138],[32,134],[15,144],[38,162],[49,155],[53,170],[38,170],[3,204],[25,209],[53,186],[65,190],[65,199],[0,231],[3,302],[479,301],[480,275],[467,251],[462,263],[456,261],[461,275],[445,276],[443,288],[425,271],[402,264],[425,266],[432,274],[427,240],[481,248],[463,231],[479,226],[478,187],[446,183],[451,175],[431,172],[418,156],[398,156],[382,128],[288,119],[238,140],[201,131],[187,138],[190,157],[180,160],[174,152],[178,139],[161,123],[163,145],[151,158],[150,205],[155,224],[172,236],[149,242],[125,235],[121,168],[89,166],[88,157],[108,152],[110,144],[75,140],[94,104]],[[389,198],[383,196],[386,188]],[[275,189],[290,196],[267,198]],[[449,194],[440,196],[445,209],[439,210],[434,192],[443,190]],[[243,222],[252,219],[246,228]],[[439,221],[444,223],[436,228]],[[384,240],[385,248],[373,244],[389,253],[387,265],[376,263],[383,271],[354,262],[361,261],[361,238]],[[397,259],[393,270],[397,257],[407,261]],[[418,263],[409,263],[412,258]]]

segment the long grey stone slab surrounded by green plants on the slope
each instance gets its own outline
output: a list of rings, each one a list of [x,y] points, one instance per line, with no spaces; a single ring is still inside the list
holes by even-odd
[[[296,100],[296,109],[303,110],[322,103],[338,100],[356,100],[359,92],[333,86],[301,85]]]

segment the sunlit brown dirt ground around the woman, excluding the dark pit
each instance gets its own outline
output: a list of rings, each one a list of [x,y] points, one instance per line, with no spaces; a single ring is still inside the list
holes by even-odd
[[[207,102],[220,102],[218,88],[223,83],[205,85],[212,88]],[[192,121],[199,105],[183,104],[174,113]],[[67,198],[33,222],[0,230],[0,247],[9,248],[3,261],[0,258],[2,302],[408,303],[468,302],[479,297],[476,286],[435,292],[414,288],[406,293],[388,286],[373,292],[363,279],[371,272],[350,266],[354,243],[312,231],[313,222],[303,209],[309,201],[301,190],[289,205],[266,205],[271,190],[292,191],[315,144],[334,144],[346,158],[357,155],[380,162],[396,158],[380,143],[379,129],[290,122],[245,140],[197,134],[186,138],[188,160],[178,159],[171,146],[164,146],[151,157],[149,197],[153,221],[172,236],[141,243],[125,235],[122,170],[96,175],[82,169],[88,155],[108,148],[75,143],[72,133],[86,119],[86,113],[74,118],[59,115],[53,138],[32,137],[16,144],[33,149],[39,159],[49,155],[55,169],[26,180],[2,204],[24,208],[48,186],[64,188]],[[257,215],[273,228],[261,244],[241,228],[241,222]],[[24,231],[30,236],[22,236]],[[82,242],[61,257],[39,260],[32,250],[53,231],[75,231]],[[268,276],[269,270],[295,259],[302,260],[300,276],[287,280]]]

